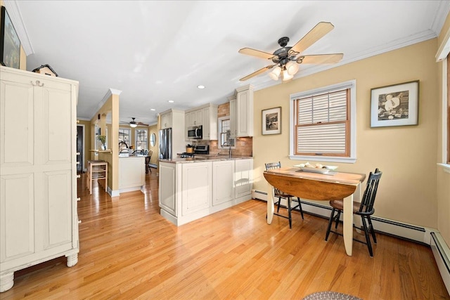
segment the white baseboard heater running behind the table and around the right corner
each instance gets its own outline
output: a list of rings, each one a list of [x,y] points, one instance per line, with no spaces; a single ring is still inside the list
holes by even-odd
[[[252,198],[267,201],[267,193],[262,190],[252,190]],[[281,204],[283,205],[283,202]],[[329,206],[316,202],[302,200],[302,209],[304,212],[326,219],[330,218],[331,214]],[[377,216],[373,216],[371,219],[373,227],[380,233],[430,245],[442,280],[450,294],[450,248],[437,230],[383,219]]]

